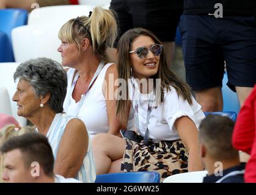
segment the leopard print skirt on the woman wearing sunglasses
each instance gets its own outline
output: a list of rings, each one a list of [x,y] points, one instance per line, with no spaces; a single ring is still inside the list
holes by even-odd
[[[121,170],[157,171],[161,182],[168,176],[188,172],[188,151],[181,140],[143,143],[126,140]]]

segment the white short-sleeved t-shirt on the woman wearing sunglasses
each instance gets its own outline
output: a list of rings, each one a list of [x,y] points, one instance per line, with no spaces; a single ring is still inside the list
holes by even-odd
[[[134,83],[134,87],[133,87]],[[147,110],[148,110],[148,99],[153,97],[153,91],[150,94],[142,94],[139,91],[137,83],[133,79],[130,80],[130,98],[134,99],[134,90],[139,92],[139,105],[136,105],[136,101],[133,102],[133,110],[138,112],[139,116],[139,129],[138,132],[141,135],[145,135],[147,130]],[[152,99],[152,98],[150,98]],[[174,126],[174,122],[181,116],[188,116],[196,124],[197,129],[199,128],[200,122],[205,115],[201,110],[201,106],[192,97],[192,105],[189,105],[188,101],[185,101],[178,94],[174,87],[170,87],[170,91],[164,92],[164,101],[158,105],[158,107],[152,107],[150,118],[148,121],[149,138],[155,143],[161,140],[178,140],[180,139],[177,129]],[[136,119],[135,119],[136,120]]]

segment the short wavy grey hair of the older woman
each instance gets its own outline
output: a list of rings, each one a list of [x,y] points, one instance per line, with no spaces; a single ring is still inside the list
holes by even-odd
[[[63,112],[67,73],[58,62],[45,57],[28,60],[16,68],[13,78],[29,82],[37,97],[49,93],[49,107],[56,113]]]

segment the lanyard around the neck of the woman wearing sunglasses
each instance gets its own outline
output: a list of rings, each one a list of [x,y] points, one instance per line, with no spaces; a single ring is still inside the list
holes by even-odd
[[[133,91],[134,91],[134,94],[135,94],[135,99],[134,99],[134,107],[133,107],[133,112],[134,112],[134,116],[135,116],[135,126],[137,128],[137,130],[139,130],[139,132],[141,132],[140,130],[140,127],[139,127],[139,99],[141,99],[141,96],[140,96],[140,92],[138,90],[136,90],[136,88],[134,87],[134,83],[133,83]],[[147,130],[145,132],[145,135],[144,135],[144,144],[147,145],[148,143],[148,138],[149,138],[149,130],[148,130],[148,122],[149,122],[149,119],[150,119],[150,114],[152,112],[152,105],[153,105],[153,98],[151,99],[149,97],[148,99],[148,107],[147,107],[147,123],[146,123],[146,127],[147,127]]]

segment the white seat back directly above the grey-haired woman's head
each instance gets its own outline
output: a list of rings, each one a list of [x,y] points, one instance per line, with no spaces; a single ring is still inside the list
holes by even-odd
[[[37,57],[48,57],[61,63],[57,51],[60,40],[59,27],[48,25],[21,26],[12,30],[13,52],[16,62],[25,62]]]

